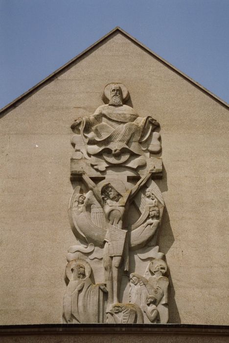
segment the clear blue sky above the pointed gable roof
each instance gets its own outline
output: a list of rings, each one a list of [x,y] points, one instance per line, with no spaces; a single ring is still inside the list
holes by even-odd
[[[0,0],[0,108],[115,26],[229,102],[229,0]]]

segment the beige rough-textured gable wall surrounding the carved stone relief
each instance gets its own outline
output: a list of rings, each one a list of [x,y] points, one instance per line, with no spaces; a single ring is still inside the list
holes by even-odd
[[[172,323],[229,324],[226,107],[115,33],[0,118],[0,324],[61,323],[74,119],[110,82],[160,123]],[[128,103],[130,104],[130,102]]]

